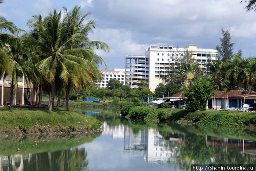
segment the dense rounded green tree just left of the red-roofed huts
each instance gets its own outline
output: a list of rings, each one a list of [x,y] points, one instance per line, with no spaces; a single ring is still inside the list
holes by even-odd
[[[198,79],[183,92],[183,96],[187,97],[185,101],[188,104],[187,109],[192,112],[206,110],[207,100],[213,94],[213,84],[203,79]]]

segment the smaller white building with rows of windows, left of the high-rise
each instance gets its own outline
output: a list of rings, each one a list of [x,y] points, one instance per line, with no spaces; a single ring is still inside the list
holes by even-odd
[[[101,71],[101,73],[102,80],[97,83],[100,88],[106,88],[111,78],[119,80],[123,85],[125,84],[125,69],[114,68],[113,71]]]

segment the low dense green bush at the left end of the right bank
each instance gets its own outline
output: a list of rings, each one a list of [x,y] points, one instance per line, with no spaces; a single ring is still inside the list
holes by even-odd
[[[138,118],[138,119],[144,119],[147,114],[150,114],[153,112],[152,108],[148,108],[146,106],[134,106],[129,111],[129,114],[132,118]]]

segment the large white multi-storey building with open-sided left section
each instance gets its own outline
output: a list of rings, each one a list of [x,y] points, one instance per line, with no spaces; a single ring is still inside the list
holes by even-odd
[[[138,83],[148,81],[151,91],[154,91],[162,82],[161,74],[169,70],[170,65],[175,66],[175,58],[185,53],[192,53],[192,58],[207,72],[207,63],[217,60],[218,51],[208,48],[197,48],[197,45],[188,45],[185,48],[173,48],[173,46],[151,46],[146,49],[144,55],[125,56],[125,82],[131,88],[138,88]]]

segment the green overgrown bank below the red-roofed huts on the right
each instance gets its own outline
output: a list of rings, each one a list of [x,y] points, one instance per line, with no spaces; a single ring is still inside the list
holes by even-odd
[[[145,121],[160,120],[182,124],[197,124],[207,127],[245,128],[256,124],[256,113],[226,110],[207,110],[188,112],[185,109],[152,109],[146,106],[134,106],[126,112],[129,117]],[[252,129],[253,126],[251,127]]]

